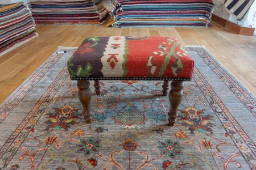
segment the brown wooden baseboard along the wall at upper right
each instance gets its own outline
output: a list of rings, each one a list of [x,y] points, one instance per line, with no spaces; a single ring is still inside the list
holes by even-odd
[[[241,25],[230,22],[229,20],[226,20],[214,14],[212,14],[212,21],[222,25],[225,28],[228,28],[230,31],[233,31],[238,35],[253,36],[253,33],[255,31],[255,28],[242,27]]]

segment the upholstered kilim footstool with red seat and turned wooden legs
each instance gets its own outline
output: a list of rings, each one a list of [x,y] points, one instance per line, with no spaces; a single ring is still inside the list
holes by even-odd
[[[174,126],[182,99],[183,81],[191,80],[194,62],[183,45],[172,37],[88,37],[68,61],[72,80],[77,81],[86,123],[91,122],[89,80],[100,95],[100,80],[164,80],[168,89],[169,125]]]

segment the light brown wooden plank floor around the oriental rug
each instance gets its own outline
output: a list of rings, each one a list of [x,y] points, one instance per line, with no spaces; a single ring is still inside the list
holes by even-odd
[[[87,36],[173,36],[207,50],[256,96],[256,37],[208,28],[111,28],[104,25],[37,25],[39,37],[0,57],[0,103],[28,78],[57,46],[79,46]]]

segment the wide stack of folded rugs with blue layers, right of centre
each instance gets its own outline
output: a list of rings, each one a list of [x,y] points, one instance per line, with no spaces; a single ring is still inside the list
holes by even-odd
[[[113,0],[113,5],[113,27],[207,26],[214,6],[213,0]]]

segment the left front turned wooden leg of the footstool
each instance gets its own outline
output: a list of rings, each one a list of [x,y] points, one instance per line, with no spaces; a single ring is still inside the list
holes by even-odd
[[[90,111],[90,99],[92,99],[92,92],[89,88],[90,82],[89,80],[78,80],[77,87],[79,88],[79,100],[82,103],[82,114],[84,114],[86,124],[90,124],[92,121],[92,112]]]

